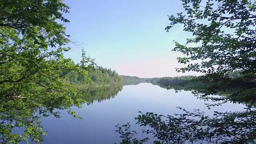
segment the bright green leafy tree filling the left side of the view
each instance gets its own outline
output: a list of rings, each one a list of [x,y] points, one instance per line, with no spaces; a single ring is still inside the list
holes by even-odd
[[[62,70],[86,75],[94,62],[84,51],[79,64],[64,58],[71,42],[64,26],[69,21],[63,16],[68,12],[60,0],[0,3],[0,143],[42,142],[46,132],[38,119],[60,117],[56,109],[79,118],[70,106],[80,107],[84,100]],[[16,134],[14,128],[23,133]]]

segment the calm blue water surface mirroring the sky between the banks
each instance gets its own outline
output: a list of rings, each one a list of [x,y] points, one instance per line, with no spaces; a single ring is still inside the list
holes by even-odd
[[[132,128],[139,131],[140,127],[134,125],[136,122],[134,117],[138,116],[139,111],[167,115],[180,113],[181,111],[176,108],[180,106],[187,110],[197,108],[205,111],[206,114],[211,114],[213,110],[234,111],[244,108],[242,104],[228,103],[208,110],[204,101],[196,99],[190,92],[175,93],[174,90],[166,90],[146,83],[123,86],[122,91],[118,93],[120,89],[114,88],[112,92],[105,89],[98,94],[96,89],[88,93],[91,101],[96,94],[96,102],[84,104],[81,109],[74,108],[83,117],[81,120],[72,118],[64,111],[61,114],[62,118],[56,119],[51,116],[43,118],[42,126],[48,131],[43,144],[118,143],[120,138],[114,133],[114,126],[130,122]],[[114,96],[110,96],[111,94]],[[100,98],[100,95],[105,98]],[[144,136],[138,135],[138,138]]]

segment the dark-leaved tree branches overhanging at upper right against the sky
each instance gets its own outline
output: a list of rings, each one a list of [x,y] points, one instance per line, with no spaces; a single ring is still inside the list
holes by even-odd
[[[184,31],[192,32],[194,38],[188,38],[185,45],[175,43],[172,51],[179,51],[187,57],[178,58],[178,62],[187,64],[177,72],[202,72],[196,81],[208,82],[205,87],[207,96],[217,91],[240,89],[228,100],[237,101],[255,95],[256,79],[256,10],[255,0],[182,0],[183,8],[188,15],[179,13],[171,15],[167,32],[175,24],[183,24]],[[203,6],[205,5],[205,6]],[[214,9],[215,8],[215,9]],[[208,24],[200,22],[207,20]],[[232,29],[232,34],[225,32]],[[187,44],[200,43],[200,46],[189,47]],[[193,64],[194,60],[202,60]],[[242,70],[243,76],[230,78],[235,70]]]

